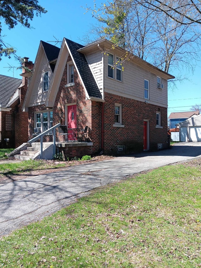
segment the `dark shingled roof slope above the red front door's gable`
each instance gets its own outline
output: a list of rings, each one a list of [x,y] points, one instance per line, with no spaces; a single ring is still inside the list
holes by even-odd
[[[83,53],[78,52],[77,50],[84,47],[78,43],[75,43],[67,38],[65,38],[68,47],[72,53],[73,59],[75,61],[75,64],[78,68],[79,74],[82,77],[82,80],[84,82],[84,85],[86,87],[86,90],[88,92],[88,95],[90,97],[96,97],[102,99],[102,95],[100,93],[100,90],[95,82],[95,79],[93,77],[93,74],[91,73],[91,70],[89,68],[89,65],[86,61],[86,58]]]

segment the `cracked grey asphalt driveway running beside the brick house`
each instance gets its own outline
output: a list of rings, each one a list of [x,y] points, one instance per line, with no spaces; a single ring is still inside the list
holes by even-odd
[[[96,187],[196,157],[201,157],[201,143],[185,142],[168,150],[121,156],[0,183],[0,236],[52,214]]]

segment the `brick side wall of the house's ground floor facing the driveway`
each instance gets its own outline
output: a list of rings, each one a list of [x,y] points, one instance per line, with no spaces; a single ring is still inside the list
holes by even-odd
[[[124,128],[113,127],[115,103],[122,105]],[[161,113],[162,129],[156,128],[156,112]],[[143,151],[144,120],[149,121],[150,150],[162,143],[167,148],[167,109],[110,93],[105,93],[104,153],[117,154],[117,146],[125,145],[125,153]]]

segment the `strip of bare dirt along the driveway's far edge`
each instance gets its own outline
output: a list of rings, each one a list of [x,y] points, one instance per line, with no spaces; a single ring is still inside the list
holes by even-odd
[[[98,162],[98,161],[103,161],[103,160],[109,160],[114,158],[114,156],[95,156],[92,157],[91,160],[87,160],[87,161],[76,161],[76,160],[72,160],[72,161],[55,161],[55,164],[58,163],[64,163],[65,166],[64,167],[57,167],[57,168],[49,168],[49,169],[37,169],[37,170],[31,170],[31,171],[26,171],[26,172],[21,172],[18,174],[9,174],[7,176],[3,176],[0,178],[0,184],[1,183],[9,183],[9,182],[13,182],[13,181],[18,181],[18,180],[23,180],[27,177],[31,177],[31,176],[37,176],[37,175],[43,175],[43,174],[48,174],[48,173],[52,173],[52,172],[58,172],[58,171],[63,171],[65,170],[67,167],[72,167],[75,165],[83,165],[86,163],[94,163],[94,162]]]

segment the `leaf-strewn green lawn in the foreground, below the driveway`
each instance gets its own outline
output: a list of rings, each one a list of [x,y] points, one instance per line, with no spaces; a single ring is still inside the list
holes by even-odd
[[[0,267],[200,267],[200,166],[94,190],[0,239]]]

